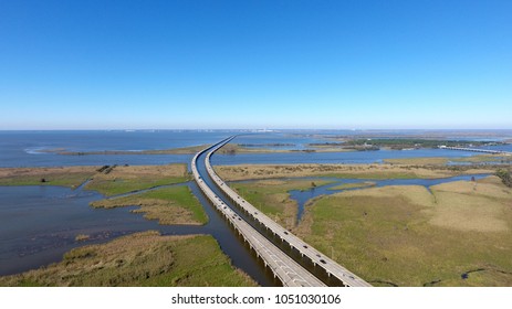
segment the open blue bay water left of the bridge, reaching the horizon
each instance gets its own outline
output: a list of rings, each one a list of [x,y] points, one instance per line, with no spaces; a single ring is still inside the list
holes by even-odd
[[[61,156],[67,151],[154,150],[213,143],[228,131],[0,131],[0,167],[186,163],[191,154]]]

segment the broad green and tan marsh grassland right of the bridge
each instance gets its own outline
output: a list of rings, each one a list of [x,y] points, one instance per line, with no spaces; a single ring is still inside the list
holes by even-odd
[[[231,179],[242,174],[257,179],[282,177],[292,169],[301,177],[324,172],[316,167],[286,166],[217,169]],[[345,167],[342,174],[347,169],[351,171]],[[406,166],[359,167],[352,170],[351,178],[368,174],[374,179],[400,178],[400,170],[408,171]],[[411,168],[410,171],[432,177],[469,170]],[[470,171],[489,172],[487,168]],[[260,204],[261,211],[286,227],[290,227],[286,217],[296,213],[293,210],[296,204],[286,192],[309,185],[311,181],[293,179],[232,184],[248,201]],[[354,183],[338,189],[357,190],[311,200],[292,231],[375,286],[512,286],[512,189],[499,178],[453,181],[429,189],[370,185]]]

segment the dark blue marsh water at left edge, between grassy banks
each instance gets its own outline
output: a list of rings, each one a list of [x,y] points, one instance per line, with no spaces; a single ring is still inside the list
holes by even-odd
[[[90,235],[85,244],[92,244],[139,231],[171,232],[130,213],[134,207],[96,210],[88,205],[101,199],[96,192],[64,187],[0,187],[0,275],[60,260],[65,252],[84,245],[75,241],[79,234]],[[184,234],[197,230],[194,226]]]

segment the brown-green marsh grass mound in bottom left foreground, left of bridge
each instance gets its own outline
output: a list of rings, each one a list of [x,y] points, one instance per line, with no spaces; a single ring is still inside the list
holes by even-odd
[[[200,254],[198,254],[200,253]],[[61,263],[13,276],[0,286],[255,286],[213,237],[144,232],[72,249]]]

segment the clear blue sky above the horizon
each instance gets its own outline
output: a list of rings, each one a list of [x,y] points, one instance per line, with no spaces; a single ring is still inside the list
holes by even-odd
[[[0,129],[512,128],[512,1],[0,0]]]

